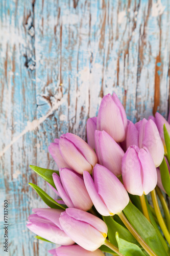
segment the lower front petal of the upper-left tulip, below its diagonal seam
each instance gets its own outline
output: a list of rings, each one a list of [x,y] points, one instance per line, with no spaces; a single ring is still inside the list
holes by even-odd
[[[67,139],[61,138],[59,142],[60,153],[71,169],[83,174],[84,170],[92,171],[92,166],[77,150],[75,145]]]

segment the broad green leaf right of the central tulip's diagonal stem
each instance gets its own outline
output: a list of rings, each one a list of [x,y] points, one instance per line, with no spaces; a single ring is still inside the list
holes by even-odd
[[[168,255],[153,225],[131,202],[129,202],[123,211],[131,225],[157,256]]]

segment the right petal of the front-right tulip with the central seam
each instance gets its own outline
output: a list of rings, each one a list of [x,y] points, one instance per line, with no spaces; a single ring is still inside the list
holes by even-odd
[[[148,195],[150,191],[152,191],[156,187],[157,184],[157,172],[155,164],[150,152],[146,147],[141,148],[141,150],[138,153],[138,157],[143,172],[143,192],[145,195]]]

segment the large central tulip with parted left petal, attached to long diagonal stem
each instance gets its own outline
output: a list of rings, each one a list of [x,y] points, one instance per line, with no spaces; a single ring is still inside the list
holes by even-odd
[[[83,177],[88,194],[101,215],[118,214],[129,203],[124,185],[106,167],[100,164],[94,166],[94,181],[88,172],[84,172]]]

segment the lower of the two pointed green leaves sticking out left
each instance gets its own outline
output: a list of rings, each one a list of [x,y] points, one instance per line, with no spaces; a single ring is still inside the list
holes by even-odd
[[[52,197],[48,196],[45,193],[45,191],[43,191],[40,187],[38,187],[37,185],[35,185],[33,183],[29,183],[29,185],[35,189],[37,194],[42,198],[44,203],[46,203],[49,207],[65,210],[65,207],[64,207],[65,205],[61,205],[61,204],[57,203]]]

